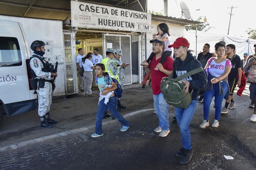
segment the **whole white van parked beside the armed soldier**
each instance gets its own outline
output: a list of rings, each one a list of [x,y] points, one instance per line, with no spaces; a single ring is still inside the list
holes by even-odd
[[[37,108],[30,87],[27,62],[30,50],[21,23],[0,20],[0,125],[8,117]]]

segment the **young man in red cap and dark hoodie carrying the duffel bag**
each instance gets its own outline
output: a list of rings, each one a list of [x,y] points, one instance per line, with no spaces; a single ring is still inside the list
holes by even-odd
[[[189,42],[186,38],[177,38],[172,45],[175,61],[173,63],[173,77],[179,77],[191,70],[202,67],[201,63],[188,52]],[[189,123],[197,107],[199,90],[202,90],[207,84],[205,72],[199,72],[181,80],[185,83],[185,92],[192,93],[192,100],[187,108],[174,107],[174,114],[179,126],[182,148],[176,153],[177,157],[182,157],[180,163],[188,163],[192,158],[192,144],[190,137]]]

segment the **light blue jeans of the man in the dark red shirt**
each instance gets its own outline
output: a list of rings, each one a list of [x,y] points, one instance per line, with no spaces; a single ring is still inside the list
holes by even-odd
[[[158,124],[162,130],[169,130],[169,105],[165,102],[163,98],[163,93],[158,95],[153,95],[155,111],[158,115]]]

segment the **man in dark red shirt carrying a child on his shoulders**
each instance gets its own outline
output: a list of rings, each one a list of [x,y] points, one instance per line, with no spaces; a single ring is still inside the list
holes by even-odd
[[[173,59],[172,57],[167,56],[165,62],[161,64],[160,60],[164,49],[164,42],[150,40],[150,43],[152,43],[152,50],[155,55],[149,64],[147,63],[147,60],[145,60],[141,65],[145,67],[148,73],[151,73],[154,107],[159,118],[159,126],[155,128],[154,131],[160,132],[160,137],[166,137],[168,133],[170,133],[169,105],[163,98],[160,84],[163,77],[168,77],[172,73]],[[158,68],[158,70],[155,70],[154,68]]]

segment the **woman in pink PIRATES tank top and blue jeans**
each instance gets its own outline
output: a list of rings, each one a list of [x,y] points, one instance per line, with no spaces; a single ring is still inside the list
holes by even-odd
[[[212,98],[215,97],[215,118],[212,127],[219,127],[219,119],[221,117],[221,105],[223,98],[228,92],[227,76],[231,70],[231,62],[224,58],[225,44],[218,42],[215,45],[215,53],[217,57],[212,57],[208,60],[205,69],[207,70],[207,90],[204,94],[204,120],[199,126],[206,128],[209,126],[209,113]]]

